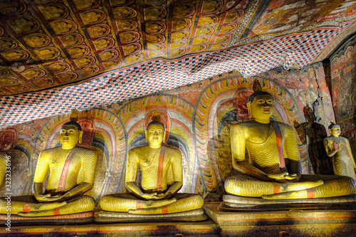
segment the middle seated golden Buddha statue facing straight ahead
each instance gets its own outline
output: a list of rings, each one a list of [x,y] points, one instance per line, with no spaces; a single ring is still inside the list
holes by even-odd
[[[148,145],[130,149],[126,165],[126,188],[130,194],[112,194],[100,199],[105,211],[130,214],[172,214],[200,209],[199,194],[177,194],[183,184],[182,154],[179,149],[162,146],[164,125],[156,110],[145,131]],[[142,172],[141,187],[135,183],[137,167]]]

